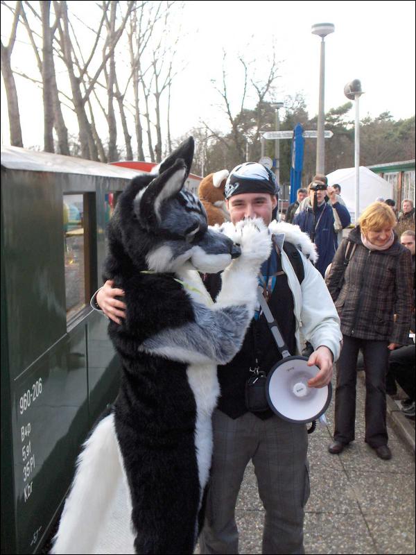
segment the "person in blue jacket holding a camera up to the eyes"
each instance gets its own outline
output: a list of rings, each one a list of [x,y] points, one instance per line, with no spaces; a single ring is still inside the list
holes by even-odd
[[[324,277],[325,270],[331,264],[338,248],[337,233],[333,227],[333,212],[336,211],[343,229],[351,223],[351,217],[345,206],[338,202],[336,191],[322,181],[313,181],[308,187],[309,203],[293,220],[295,225],[311,237],[318,250],[316,268]],[[325,196],[328,197],[327,202]]]

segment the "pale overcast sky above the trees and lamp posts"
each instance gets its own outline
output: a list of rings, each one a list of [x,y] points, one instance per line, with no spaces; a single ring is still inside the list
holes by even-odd
[[[83,1],[83,9],[93,2]],[[1,8],[3,12],[3,7]],[[5,19],[5,18],[4,18]],[[177,60],[186,67],[173,87],[173,137],[198,126],[201,119],[227,129],[211,80],[221,78],[223,49],[227,52],[229,83],[238,110],[241,71],[237,56],[254,60],[259,78],[268,69],[267,56],[275,44],[281,60],[277,97],[306,99],[309,115],[318,112],[320,38],[311,34],[315,23],[331,22],[335,32],[325,39],[325,109],[347,101],[345,83],[361,80],[361,117],[390,111],[395,119],[415,114],[414,1],[185,1],[185,30]],[[3,43],[9,29],[1,27]],[[32,54],[19,45],[12,65],[25,67]],[[33,60],[33,58],[32,58]],[[35,62],[31,62],[36,74]],[[25,146],[42,145],[42,100],[32,85],[17,81]],[[8,143],[7,107],[1,85],[3,141]],[[24,101],[23,101],[24,99]],[[38,100],[39,99],[39,100]],[[248,98],[246,108],[254,106]],[[39,110],[34,110],[39,106]],[[354,117],[351,112],[352,118]],[[283,114],[282,114],[283,115]],[[105,130],[104,132],[105,133]]]

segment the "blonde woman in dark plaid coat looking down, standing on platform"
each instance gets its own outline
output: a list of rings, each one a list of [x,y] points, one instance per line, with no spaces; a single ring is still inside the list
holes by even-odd
[[[359,225],[343,239],[327,276],[344,342],[337,362],[335,431],[330,453],[340,453],[354,441],[356,361],[361,348],[365,363],[365,442],[381,459],[392,456],[385,424],[385,375],[389,352],[408,343],[412,307],[412,259],[410,251],[397,241],[395,225],[395,214],[388,205],[373,203],[367,207]]]

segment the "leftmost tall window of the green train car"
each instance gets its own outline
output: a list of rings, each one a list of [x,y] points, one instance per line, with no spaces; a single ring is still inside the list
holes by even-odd
[[[84,195],[64,194],[65,296],[67,321],[85,307]]]

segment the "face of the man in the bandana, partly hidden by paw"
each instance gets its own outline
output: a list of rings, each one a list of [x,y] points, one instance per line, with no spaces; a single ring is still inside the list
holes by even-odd
[[[262,218],[266,225],[272,221],[277,198],[268,193],[243,193],[227,199],[229,216],[234,225],[244,218]]]

